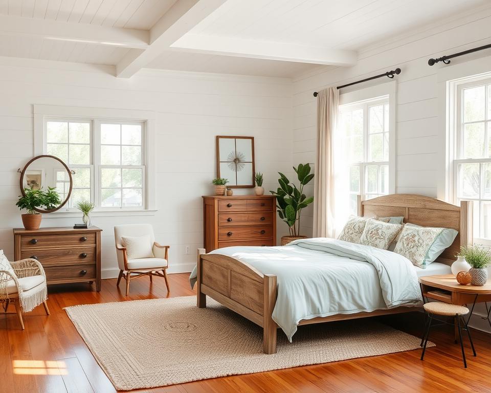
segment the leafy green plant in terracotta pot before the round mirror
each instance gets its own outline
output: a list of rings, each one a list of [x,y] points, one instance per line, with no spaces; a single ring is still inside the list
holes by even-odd
[[[36,230],[39,229],[39,226],[41,225],[42,215],[35,209],[45,207],[47,210],[51,210],[60,203],[60,197],[54,187],[48,187],[48,191],[24,188],[24,195],[19,195],[19,200],[15,205],[18,206],[20,210],[27,210],[26,214],[21,214],[24,228]]]

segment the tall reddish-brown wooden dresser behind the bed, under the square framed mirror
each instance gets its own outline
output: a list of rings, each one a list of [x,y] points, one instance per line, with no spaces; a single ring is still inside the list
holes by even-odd
[[[276,246],[276,197],[203,197],[206,252],[230,246]]]

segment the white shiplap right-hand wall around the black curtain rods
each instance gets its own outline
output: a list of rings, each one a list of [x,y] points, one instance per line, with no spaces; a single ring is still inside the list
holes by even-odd
[[[445,141],[441,133],[438,70],[452,65],[441,63],[430,67],[430,57],[440,57],[490,42],[491,8],[467,12],[435,26],[426,26],[405,36],[367,48],[351,68],[319,68],[295,78],[293,82],[293,163],[315,162],[316,99],[312,93],[384,73],[399,67],[396,76],[396,192],[418,193],[443,198]],[[452,64],[489,56],[489,51],[458,57]],[[489,59],[483,60],[488,61]],[[460,65],[459,67],[462,67]],[[378,79],[344,92],[382,83]],[[442,116],[443,115],[443,116]],[[312,187],[311,187],[312,188]],[[312,209],[304,214],[302,230],[311,234]]]

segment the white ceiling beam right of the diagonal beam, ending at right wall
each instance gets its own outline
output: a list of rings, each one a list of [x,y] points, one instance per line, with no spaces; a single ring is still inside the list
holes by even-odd
[[[358,59],[355,51],[194,33],[178,39],[171,49],[324,65],[354,65]]]

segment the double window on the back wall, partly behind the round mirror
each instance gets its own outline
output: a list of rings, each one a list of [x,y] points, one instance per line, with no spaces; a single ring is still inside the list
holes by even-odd
[[[44,130],[46,154],[75,172],[69,208],[82,200],[105,210],[145,207],[144,122],[45,119]],[[66,195],[69,179],[55,176]]]

